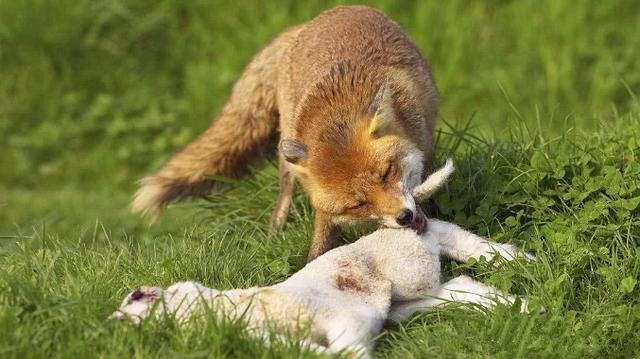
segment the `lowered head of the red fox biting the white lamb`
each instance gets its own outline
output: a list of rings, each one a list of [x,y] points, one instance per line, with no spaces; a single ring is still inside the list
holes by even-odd
[[[345,102],[315,111],[322,118],[305,121],[304,140],[283,139],[280,153],[314,207],[335,221],[412,225],[423,154],[396,117],[392,89],[383,84],[368,100]]]

